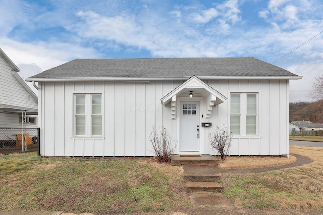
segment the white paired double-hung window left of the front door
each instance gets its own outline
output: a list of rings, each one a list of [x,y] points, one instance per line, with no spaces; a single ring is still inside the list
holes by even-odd
[[[102,95],[74,95],[75,136],[102,136]]]

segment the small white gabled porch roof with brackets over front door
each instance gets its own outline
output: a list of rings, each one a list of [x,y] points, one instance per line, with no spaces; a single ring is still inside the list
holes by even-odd
[[[172,119],[175,119],[175,112],[176,112],[176,97],[181,94],[189,94],[190,91],[193,93],[198,94],[206,100],[207,104],[207,112],[206,117],[209,118],[211,111],[214,105],[218,105],[223,103],[227,98],[219,93],[218,91],[214,90],[211,86],[200,80],[197,76],[193,75],[183,84],[169,92],[166,96],[161,98],[161,103],[166,105],[167,103],[171,102],[171,113]]]

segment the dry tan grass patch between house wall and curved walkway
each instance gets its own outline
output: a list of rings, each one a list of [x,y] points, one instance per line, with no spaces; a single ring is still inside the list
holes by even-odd
[[[290,164],[296,161],[295,156],[227,156],[226,160],[219,164],[223,169],[246,169],[257,167],[272,167]]]

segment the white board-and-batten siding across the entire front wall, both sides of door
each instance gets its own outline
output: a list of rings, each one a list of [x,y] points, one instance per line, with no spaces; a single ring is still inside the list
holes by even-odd
[[[160,99],[183,82],[39,82],[41,155],[153,156],[149,141],[152,126],[155,125],[157,131],[164,126],[173,140],[179,138],[179,117],[171,119],[171,103],[163,106]],[[204,139],[202,154],[215,154],[209,144],[209,133],[217,126],[228,126],[230,123],[231,92],[258,93],[258,135],[234,136],[230,155],[289,154],[288,80],[205,82],[228,100],[214,106],[210,118],[202,121],[212,122],[212,127],[201,127],[201,139]],[[75,93],[102,94],[102,137],[73,136]],[[204,110],[200,113],[205,115],[207,104],[203,106]]]

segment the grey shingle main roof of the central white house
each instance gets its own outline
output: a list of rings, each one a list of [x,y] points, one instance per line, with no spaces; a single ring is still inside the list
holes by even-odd
[[[300,79],[289,71],[253,57],[242,58],[144,58],[75,59],[27,81],[57,78],[103,77],[288,77]]]

